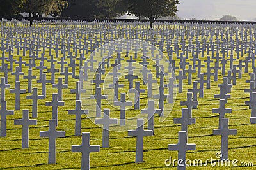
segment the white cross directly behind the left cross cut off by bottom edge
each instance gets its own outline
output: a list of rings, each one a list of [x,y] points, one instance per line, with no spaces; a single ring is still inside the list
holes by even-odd
[[[75,125],[75,136],[81,136],[81,117],[83,114],[88,115],[88,110],[82,110],[80,100],[76,100],[76,109],[68,110],[69,115],[76,115],[76,125]]]

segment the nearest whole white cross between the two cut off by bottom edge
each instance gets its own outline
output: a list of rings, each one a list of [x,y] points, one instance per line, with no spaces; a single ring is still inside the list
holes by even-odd
[[[152,136],[152,130],[144,130],[144,120],[137,119],[137,129],[128,131],[128,136],[136,136],[136,163],[143,162],[143,138]]]

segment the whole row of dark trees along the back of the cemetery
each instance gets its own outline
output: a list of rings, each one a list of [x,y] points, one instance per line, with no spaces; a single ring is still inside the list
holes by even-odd
[[[30,25],[45,15],[68,18],[114,18],[124,13],[148,18],[150,27],[157,18],[173,17],[178,0],[0,0],[0,17],[29,13]]]

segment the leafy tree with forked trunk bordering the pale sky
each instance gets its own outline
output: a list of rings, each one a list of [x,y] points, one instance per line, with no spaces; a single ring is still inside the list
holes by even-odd
[[[125,1],[125,0],[124,0]],[[157,18],[174,17],[177,12],[178,0],[126,0],[129,14],[137,17],[146,17],[150,22],[150,28]]]

